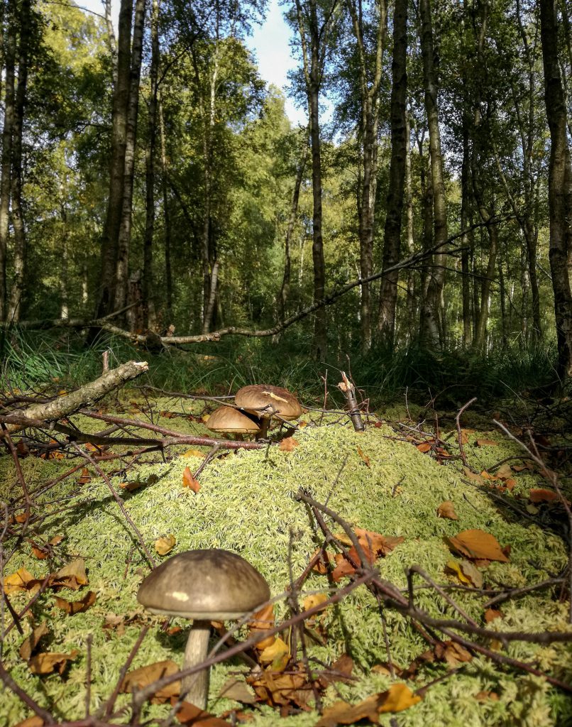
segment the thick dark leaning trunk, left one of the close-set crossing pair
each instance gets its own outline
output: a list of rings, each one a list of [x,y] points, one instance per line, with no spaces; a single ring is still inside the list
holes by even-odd
[[[101,283],[96,318],[113,313],[119,227],[123,209],[127,108],[131,75],[132,0],[121,0],[118,22],[117,81],[113,89],[108,209],[101,240]]]

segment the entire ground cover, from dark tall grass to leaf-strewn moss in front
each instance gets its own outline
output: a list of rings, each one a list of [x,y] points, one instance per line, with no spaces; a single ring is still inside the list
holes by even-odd
[[[492,360],[351,356],[359,433],[334,366],[258,343],[105,348],[148,373],[20,429],[16,410],[93,381],[102,350],[5,349],[2,727],[572,724],[572,412],[550,352],[512,378],[507,353],[496,383]],[[204,443],[210,397],[257,382],[297,392],[297,425]],[[273,608],[224,644],[215,624],[197,715],[177,701],[188,622],[136,595],[151,566],[213,547],[263,574]]]

